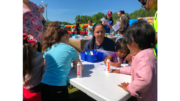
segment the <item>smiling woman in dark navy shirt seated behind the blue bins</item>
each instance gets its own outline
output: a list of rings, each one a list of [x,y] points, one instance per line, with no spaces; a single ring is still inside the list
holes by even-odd
[[[86,42],[83,51],[88,49],[115,51],[115,42],[105,36],[105,29],[101,23],[93,27],[93,38]]]

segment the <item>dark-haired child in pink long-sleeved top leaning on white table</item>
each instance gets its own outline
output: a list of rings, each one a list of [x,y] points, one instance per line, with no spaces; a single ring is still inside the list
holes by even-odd
[[[154,54],[155,31],[145,21],[134,23],[125,34],[127,46],[131,52],[137,53],[132,64],[114,73],[128,74],[132,83],[121,83],[119,87],[137,98],[138,101],[157,101],[157,59]]]

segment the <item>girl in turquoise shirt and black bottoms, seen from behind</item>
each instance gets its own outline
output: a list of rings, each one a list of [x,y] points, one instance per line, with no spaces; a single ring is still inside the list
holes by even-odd
[[[52,22],[44,38],[43,50],[46,71],[42,78],[42,101],[69,101],[67,79],[71,69],[71,62],[77,65],[79,55],[70,45],[66,28]],[[82,65],[83,70],[83,65]]]

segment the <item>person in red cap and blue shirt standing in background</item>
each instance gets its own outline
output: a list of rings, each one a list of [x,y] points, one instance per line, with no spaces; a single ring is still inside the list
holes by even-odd
[[[106,21],[102,21],[102,24],[105,28],[105,33],[110,35],[110,28],[113,26],[113,20],[112,20],[112,11],[108,11],[106,17],[104,17]]]

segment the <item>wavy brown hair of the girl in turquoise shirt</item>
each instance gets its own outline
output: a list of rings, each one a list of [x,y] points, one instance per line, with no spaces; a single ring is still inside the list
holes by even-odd
[[[52,22],[46,29],[43,41],[43,51],[46,51],[55,43],[59,43],[61,38],[68,34],[66,28],[59,26],[59,22]]]

